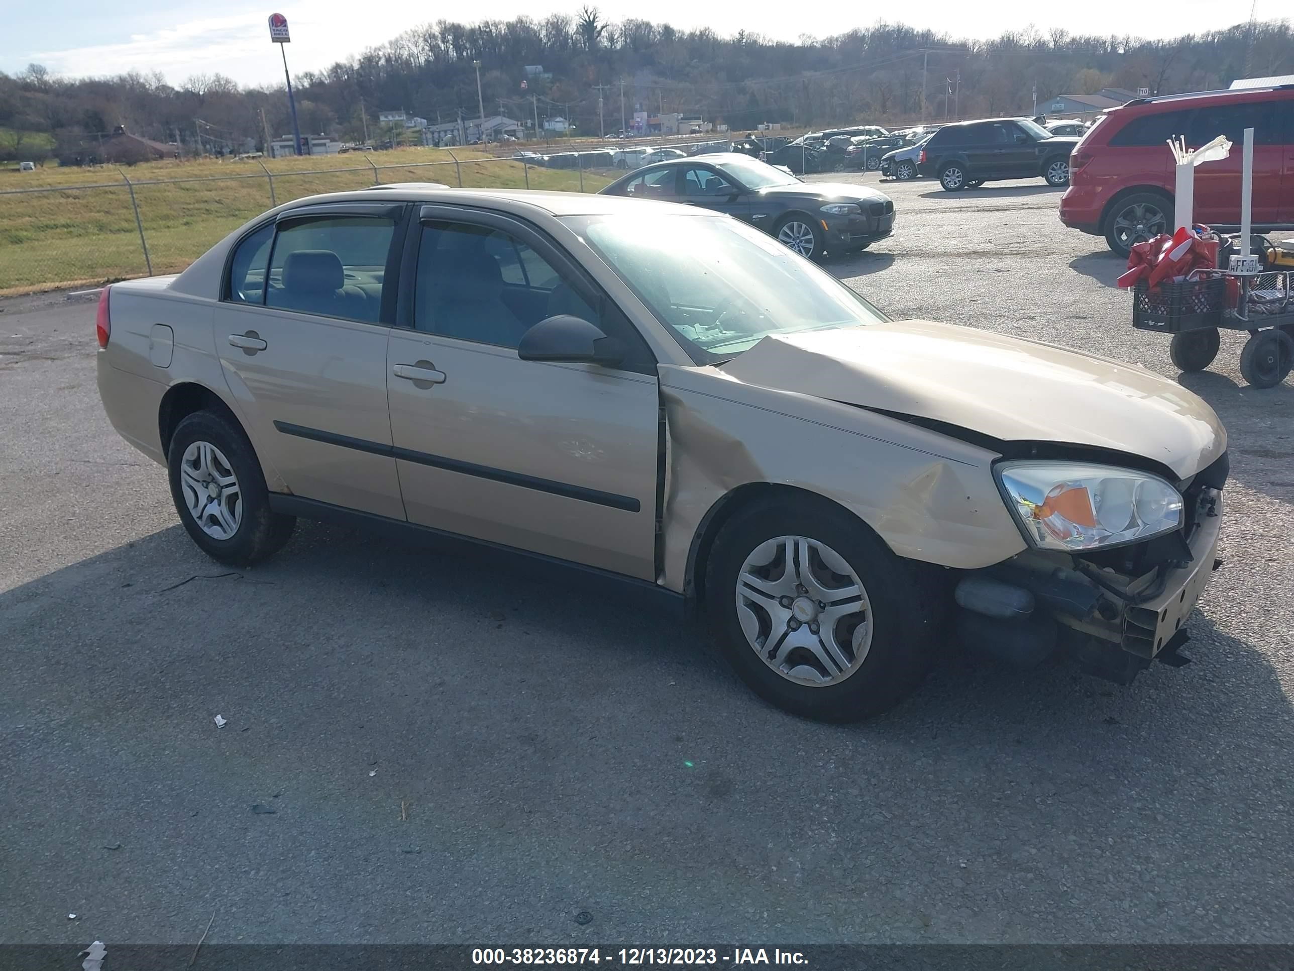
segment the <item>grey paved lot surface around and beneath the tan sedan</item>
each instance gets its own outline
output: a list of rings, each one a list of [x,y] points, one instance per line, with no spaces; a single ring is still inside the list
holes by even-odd
[[[1175,375],[1040,180],[883,188],[828,267],[892,316]],[[510,561],[303,523],[229,572],[109,427],[93,304],[0,307],[0,943],[1294,940],[1294,386],[1242,335],[1181,379],[1233,470],[1193,664],[950,650],[841,728]]]

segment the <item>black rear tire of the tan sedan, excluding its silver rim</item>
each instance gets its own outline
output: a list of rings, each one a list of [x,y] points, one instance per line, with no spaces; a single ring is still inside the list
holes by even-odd
[[[237,479],[241,518],[229,539],[216,539],[204,532],[185,501],[181,463],[189,447],[202,441],[215,445],[224,454]],[[167,467],[175,511],[193,541],[212,559],[229,566],[251,566],[272,557],[291,537],[296,517],[270,510],[260,462],[251,441],[232,419],[214,412],[194,412],[186,417],[171,436]]]

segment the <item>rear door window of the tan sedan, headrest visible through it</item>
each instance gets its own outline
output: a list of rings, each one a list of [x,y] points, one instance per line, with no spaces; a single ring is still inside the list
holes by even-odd
[[[274,238],[267,307],[377,324],[395,223],[325,216],[290,223]]]

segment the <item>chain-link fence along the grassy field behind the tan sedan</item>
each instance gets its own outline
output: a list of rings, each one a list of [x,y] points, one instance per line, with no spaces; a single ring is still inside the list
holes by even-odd
[[[63,184],[0,189],[0,296],[177,273],[242,223],[305,195],[392,183],[597,192],[652,161],[643,146],[628,144],[547,155],[518,148],[511,158],[474,146],[440,150],[446,161],[388,164],[360,154],[331,157],[342,167],[312,170],[242,159],[223,166],[238,170],[229,175],[177,179],[109,167],[54,170]],[[726,140],[670,141],[660,150],[731,148]]]

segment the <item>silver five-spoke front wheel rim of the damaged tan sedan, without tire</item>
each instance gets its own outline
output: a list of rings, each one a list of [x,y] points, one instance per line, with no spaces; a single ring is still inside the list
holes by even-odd
[[[751,552],[738,572],[736,612],[751,650],[801,685],[840,684],[872,643],[871,603],[858,575],[806,536],[778,536]]]

